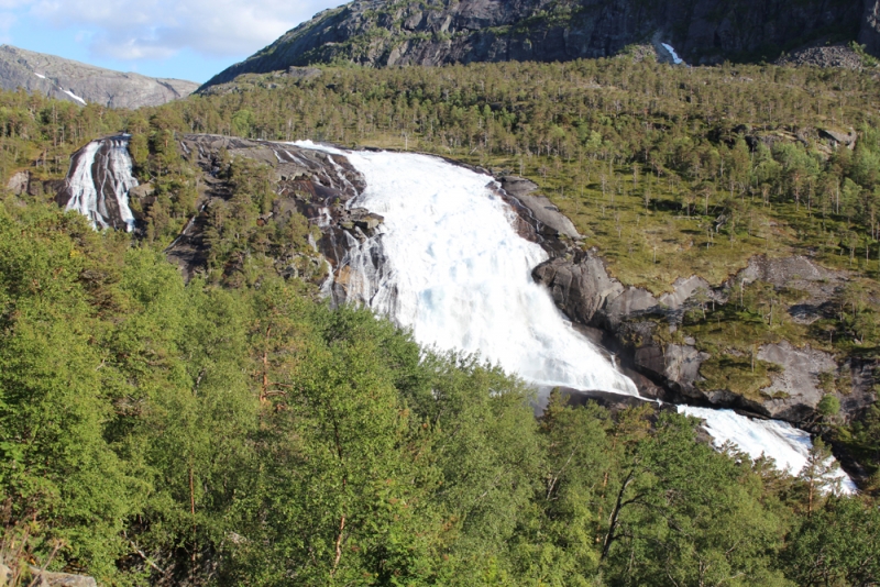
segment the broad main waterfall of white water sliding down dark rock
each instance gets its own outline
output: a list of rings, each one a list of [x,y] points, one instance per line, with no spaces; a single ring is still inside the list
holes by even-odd
[[[366,178],[349,206],[385,218],[376,236],[350,242],[337,278],[350,302],[411,328],[422,344],[480,353],[540,386],[638,395],[532,280],[547,253],[517,234],[492,178],[426,155],[345,156]]]

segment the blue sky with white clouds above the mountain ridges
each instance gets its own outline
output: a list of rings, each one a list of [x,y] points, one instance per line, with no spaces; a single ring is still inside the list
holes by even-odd
[[[0,0],[0,43],[207,81],[344,0]]]

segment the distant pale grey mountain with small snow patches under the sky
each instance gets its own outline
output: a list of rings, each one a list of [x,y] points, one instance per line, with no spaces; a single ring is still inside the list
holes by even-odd
[[[161,106],[193,93],[198,84],[102,69],[54,55],[0,46],[0,87],[24,88],[79,104],[111,108]]]

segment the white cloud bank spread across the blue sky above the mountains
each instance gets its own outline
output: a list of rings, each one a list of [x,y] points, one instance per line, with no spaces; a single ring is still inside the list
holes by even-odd
[[[80,31],[94,54],[132,60],[167,58],[184,48],[206,57],[250,55],[343,1],[0,0],[0,9],[30,5],[32,18]]]

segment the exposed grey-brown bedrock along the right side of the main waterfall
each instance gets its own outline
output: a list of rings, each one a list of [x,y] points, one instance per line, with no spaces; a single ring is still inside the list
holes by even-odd
[[[821,379],[844,378],[851,390],[840,394],[846,417],[858,413],[875,399],[873,364],[847,361],[842,365],[824,351],[788,341],[766,344],[757,358],[778,366],[761,400],[747,399],[728,389],[707,389],[701,376],[712,357],[700,341],[663,342],[661,329],[674,333],[684,312],[705,303],[726,303],[734,284],[763,280],[778,287],[795,287],[809,294],[790,309],[792,318],[809,323],[825,310],[845,276],[826,270],[806,257],[767,259],[756,257],[749,266],[717,288],[698,277],[681,278],[672,291],[654,297],[641,288],[625,287],[610,277],[596,251],[558,256],[536,267],[535,280],[544,285],[557,306],[576,323],[600,329],[603,342],[617,352],[644,395],[676,403],[696,403],[744,410],[765,417],[806,423],[827,394]],[[733,352],[733,351],[732,351]],[[823,374],[826,374],[823,376]]]

